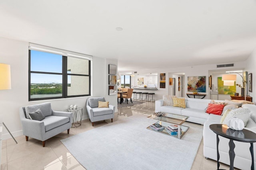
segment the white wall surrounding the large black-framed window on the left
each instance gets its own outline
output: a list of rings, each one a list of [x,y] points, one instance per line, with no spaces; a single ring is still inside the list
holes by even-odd
[[[47,45],[47,44],[46,44]],[[76,104],[83,108],[83,119],[87,119],[86,97],[64,98],[54,100],[40,100],[28,102],[28,42],[16,41],[0,37],[0,63],[11,65],[11,90],[0,90],[0,108],[3,121],[11,131],[12,135],[22,135],[19,108],[22,106],[51,102],[52,109],[66,111],[70,105]],[[110,104],[117,106],[116,96],[108,96],[108,72],[107,66],[110,61],[93,57],[92,61],[92,87],[93,97],[104,96]],[[111,61],[116,64],[117,61]],[[10,138],[8,132],[3,128],[2,139]]]

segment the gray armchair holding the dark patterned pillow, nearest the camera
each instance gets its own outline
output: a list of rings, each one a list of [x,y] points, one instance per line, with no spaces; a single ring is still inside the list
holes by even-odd
[[[37,109],[42,111],[45,118],[42,121],[26,118],[26,114],[34,112]],[[22,124],[23,135],[42,141],[43,147],[45,141],[59,133],[68,130],[72,126],[72,113],[63,111],[53,111],[50,103],[36,104],[20,107],[20,121]]]

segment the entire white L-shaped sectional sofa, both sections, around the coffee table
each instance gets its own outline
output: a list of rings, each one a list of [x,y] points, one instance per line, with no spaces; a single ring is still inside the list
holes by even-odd
[[[189,116],[187,121],[193,123],[199,123],[204,125],[203,137],[204,137],[204,157],[217,160],[217,150],[216,150],[216,134],[210,130],[209,126],[211,124],[221,124],[221,115],[214,115],[205,113],[205,109],[211,100],[208,99],[194,99],[186,98],[186,108],[173,107],[173,106],[163,106],[164,100],[156,100],[155,111],[164,111],[166,113],[174,113],[179,115]],[[224,102],[216,101],[215,102]],[[250,109],[250,118],[245,129],[253,131],[256,133],[256,105],[253,104],[243,104],[243,108]],[[220,162],[224,164],[230,164],[229,162],[229,139],[219,136],[219,154]],[[234,141],[236,147],[234,152],[236,154],[234,159],[234,167],[247,170],[250,169],[252,164],[252,158],[250,154],[250,143],[242,143]],[[254,158],[256,159],[256,144],[254,144]],[[254,159],[254,165],[256,168],[256,161]],[[217,166],[217,163],[216,163]]]

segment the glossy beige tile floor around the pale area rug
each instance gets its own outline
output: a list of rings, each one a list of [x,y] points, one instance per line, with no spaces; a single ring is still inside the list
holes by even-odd
[[[118,108],[113,121],[125,119],[134,114],[152,114],[155,109],[154,104],[154,102],[145,102],[131,107]],[[70,134],[65,131],[48,139],[44,148],[41,141],[32,138],[26,141],[25,136],[15,137],[18,144],[12,139],[4,140],[2,141],[1,170],[84,170],[85,168],[70,154],[60,140],[108,123],[111,123],[111,120],[94,123],[92,127],[88,119],[83,120],[80,127],[70,129]],[[216,161],[204,158],[202,141],[191,169],[216,170],[216,168]],[[229,166],[221,164],[220,168],[229,169]]]

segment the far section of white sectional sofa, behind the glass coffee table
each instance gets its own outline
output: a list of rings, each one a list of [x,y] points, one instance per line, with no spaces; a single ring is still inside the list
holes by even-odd
[[[209,113],[205,113],[205,109],[208,104],[211,102],[210,99],[195,99],[195,98],[186,98],[186,108],[182,107],[173,107],[173,106],[163,106],[164,100],[156,100],[155,110],[164,111],[166,113],[174,113],[178,115],[189,116],[187,121],[193,123],[199,123],[201,125],[208,119]],[[215,100],[216,102],[224,102],[220,100]]]

